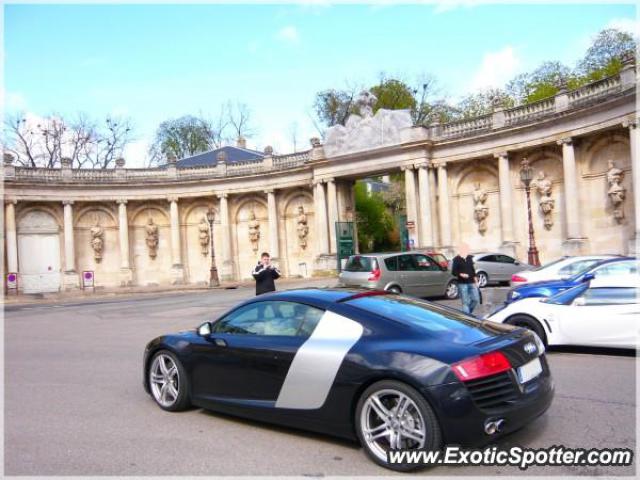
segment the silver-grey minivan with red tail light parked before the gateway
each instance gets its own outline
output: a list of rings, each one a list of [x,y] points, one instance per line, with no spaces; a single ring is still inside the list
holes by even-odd
[[[458,297],[458,282],[448,268],[419,252],[351,255],[338,281],[344,287],[387,290],[416,297]]]

